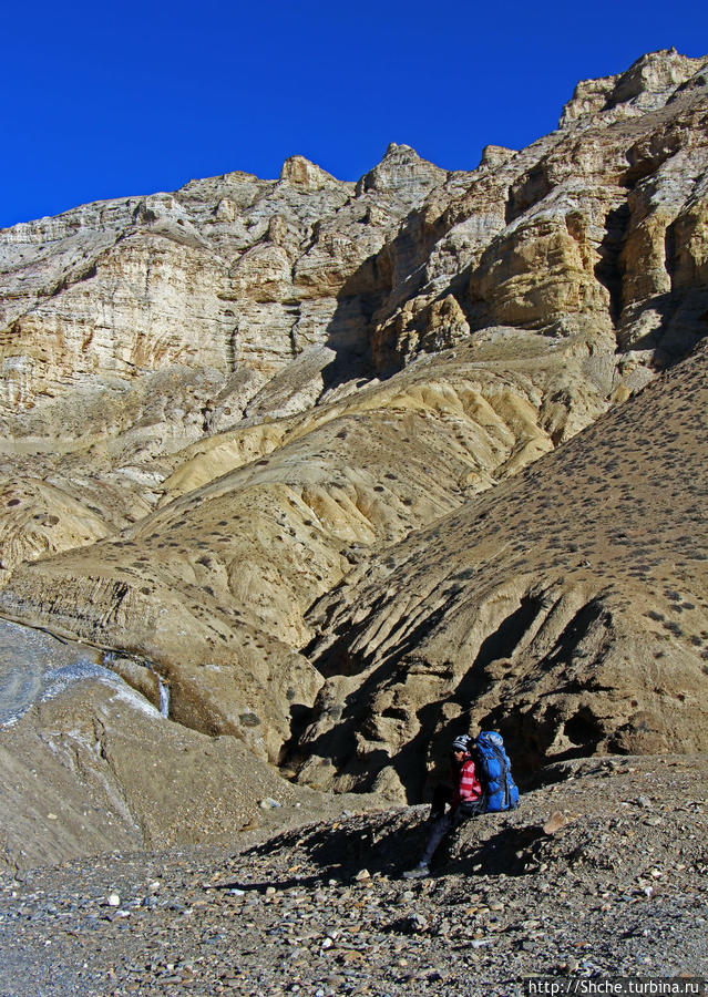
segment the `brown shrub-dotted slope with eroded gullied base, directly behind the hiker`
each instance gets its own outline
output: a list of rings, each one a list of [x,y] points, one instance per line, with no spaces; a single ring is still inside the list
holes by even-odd
[[[708,746],[708,348],[322,599],[314,784],[415,799],[437,746],[517,769]]]

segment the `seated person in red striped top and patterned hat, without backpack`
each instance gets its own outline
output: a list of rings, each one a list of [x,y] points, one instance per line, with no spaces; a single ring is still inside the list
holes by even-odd
[[[451,749],[452,792],[440,793],[433,798],[433,819],[428,844],[422,859],[415,866],[403,873],[407,880],[415,880],[430,874],[430,862],[440,842],[454,828],[470,816],[484,813],[486,805],[482,783],[475,771],[474,760],[470,751],[471,738],[455,738]],[[445,799],[449,798],[450,810],[445,811]]]

